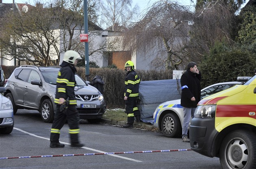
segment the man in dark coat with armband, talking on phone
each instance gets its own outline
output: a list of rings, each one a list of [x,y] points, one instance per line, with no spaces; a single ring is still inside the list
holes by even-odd
[[[197,69],[195,62],[189,62],[187,71],[180,78],[181,100],[180,105],[183,107],[184,120],[182,125],[182,142],[190,142],[188,137],[188,127],[190,118],[194,117],[197,103],[201,95],[201,74]]]

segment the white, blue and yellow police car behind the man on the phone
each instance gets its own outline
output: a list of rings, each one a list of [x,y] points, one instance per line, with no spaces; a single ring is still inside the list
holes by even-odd
[[[234,82],[222,82],[210,85],[201,90],[201,99],[223,91],[234,85],[243,85],[251,77],[238,77]],[[180,99],[164,102],[157,106],[154,115],[154,126],[159,128],[165,137],[180,137],[182,133],[183,109]]]

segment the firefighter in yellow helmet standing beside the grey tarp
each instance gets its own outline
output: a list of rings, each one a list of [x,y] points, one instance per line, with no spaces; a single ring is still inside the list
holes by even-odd
[[[134,120],[136,119],[136,121],[139,122],[141,118],[139,109],[137,107],[137,99],[139,98],[139,84],[141,80],[137,72],[134,70],[134,64],[132,61],[127,61],[124,67],[127,71],[126,78],[124,80],[124,100],[127,123],[123,126],[123,128],[132,128]]]

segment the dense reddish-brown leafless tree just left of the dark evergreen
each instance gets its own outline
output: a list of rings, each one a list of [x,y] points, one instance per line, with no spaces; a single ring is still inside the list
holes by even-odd
[[[230,5],[221,0],[210,1],[193,15],[191,35],[194,50],[199,55],[208,53],[216,41],[234,44],[236,16]]]

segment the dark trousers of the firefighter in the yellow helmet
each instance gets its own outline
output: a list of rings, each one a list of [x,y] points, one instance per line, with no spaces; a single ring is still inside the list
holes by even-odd
[[[140,112],[137,107],[137,97],[128,97],[125,101],[125,111],[127,114],[127,124],[133,124],[134,117],[140,116]]]

